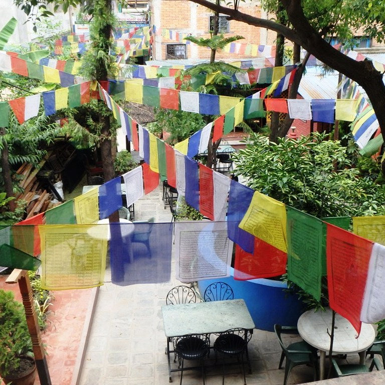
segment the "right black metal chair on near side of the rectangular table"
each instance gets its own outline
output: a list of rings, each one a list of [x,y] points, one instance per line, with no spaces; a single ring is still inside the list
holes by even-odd
[[[217,361],[217,354],[223,355],[222,364],[222,384],[225,383],[225,357],[235,356],[239,364],[242,363],[243,379],[246,385],[246,372],[243,355],[246,354],[246,359],[251,372],[249,352],[247,349],[248,343],[251,339],[251,332],[243,328],[229,329],[220,333],[214,342],[214,352]]]

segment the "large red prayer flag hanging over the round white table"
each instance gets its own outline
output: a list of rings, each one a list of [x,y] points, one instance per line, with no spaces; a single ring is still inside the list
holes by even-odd
[[[330,307],[345,317],[357,333],[373,242],[326,224],[327,286]]]

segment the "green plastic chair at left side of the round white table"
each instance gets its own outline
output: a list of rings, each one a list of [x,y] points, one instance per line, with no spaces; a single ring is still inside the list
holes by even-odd
[[[288,346],[285,346],[281,334],[298,334],[298,330],[296,327],[292,326],[281,326],[278,324],[274,325],[274,331],[277,335],[279,344],[282,348],[281,359],[279,361],[278,368],[282,367],[282,363],[284,358],[286,358],[285,363],[285,377],[283,380],[283,385],[286,385],[287,378],[289,377],[289,373],[294,366],[309,364],[313,366],[314,369],[314,381],[318,376],[318,366],[317,366],[317,351],[310,346],[305,341],[293,342]]]

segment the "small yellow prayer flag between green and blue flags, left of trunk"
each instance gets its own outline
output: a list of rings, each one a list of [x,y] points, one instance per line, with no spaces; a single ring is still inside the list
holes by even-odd
[[[74,198],[76,222],[88,225],[99,220],[99,187]]]

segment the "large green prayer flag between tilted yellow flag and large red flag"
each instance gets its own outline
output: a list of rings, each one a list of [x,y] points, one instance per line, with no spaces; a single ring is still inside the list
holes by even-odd
[[[325,258],[323,222],[292,207],[286,208],[287,278],[319,301],[322,258]]]

